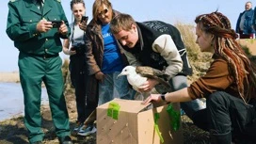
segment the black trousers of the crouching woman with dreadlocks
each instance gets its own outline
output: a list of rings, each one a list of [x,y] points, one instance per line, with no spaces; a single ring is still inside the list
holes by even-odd
[[[211,134],[221,136],[256,136],[256,103],[245,104],[242,99],[217,91],[206,98],[206,108],[196,112],[194,123]]]

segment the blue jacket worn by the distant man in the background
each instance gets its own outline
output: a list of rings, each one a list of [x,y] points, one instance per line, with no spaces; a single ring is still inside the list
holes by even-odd
[[[253,15],[254,15],[254,10],[252,8],[250,8],[249,10],[245,10],[244,12],[240,13],[237,23],[236,23],[236,28],[235,28],[235,32],[239,33],[240,30],[240,22],[241,22],[241,17],[242,15],[245,13],[245,23],[244,23],[244,30],[243,33],[248,35],[248,34],[252,34],[255,33],[255,30],[253,29],[252,25],[253,25]]]

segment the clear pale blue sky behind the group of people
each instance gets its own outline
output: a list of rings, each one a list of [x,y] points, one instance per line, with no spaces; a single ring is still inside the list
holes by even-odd
[[[84,1],[87,8],[86,15],[90,21],[94,0]],[[71,23],[70,2],[71,0],[61,0],[62,7]],[[110,0],[110,2],[114,9],[132,15],[137,22],[160,20],[168,24],[195,24],[196,16],[218,9],[230,19],[234,29],[239,13],[245,10],[247,0]],[[254,8],[253,3],[252,6]],[[0,9],[2,13],[0,16],[0,45],[3,46],[0,48],[0,72],[18,72],[19,51],[6,34],[8,0],[0,0]],[[63,53],[60,56],[62,59],[69,58]]]

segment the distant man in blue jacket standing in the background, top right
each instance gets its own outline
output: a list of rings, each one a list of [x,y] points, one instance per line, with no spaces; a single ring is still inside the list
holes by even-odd
[[[247,2],[245,6],[246,10],[240,13],[235,32],[239,34],[240,39],[252,39],[255,33],[253,29],[253,15],[252,3]]]

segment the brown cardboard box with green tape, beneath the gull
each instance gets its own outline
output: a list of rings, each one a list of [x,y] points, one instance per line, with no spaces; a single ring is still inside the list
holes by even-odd
[[[116,109],[111,104],[118,104]],[[172,104],[180,112],[179,104]],[[182,144],[183,131],[172,131],[167,105],[150,108],[141,101],[114,99],[97,107],[97,144]],[[115,109],[115,108],[114,108]],[[160,136],[154,126],[155,113]]]

